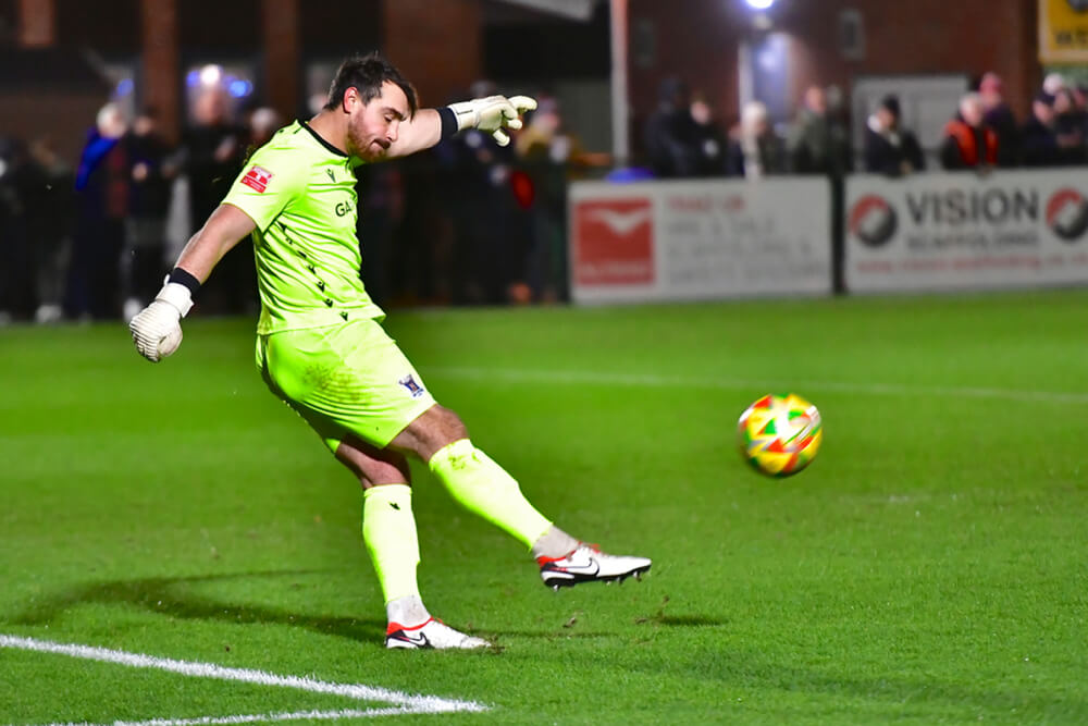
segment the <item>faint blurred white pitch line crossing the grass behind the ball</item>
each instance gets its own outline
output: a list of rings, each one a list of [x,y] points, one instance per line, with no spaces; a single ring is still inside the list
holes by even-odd
[[[646,387],[691,387],[737,391],[741,389],[776,390],[781,381],[751,381],[742,379],[714,379],[654,373],[619,373],[577,370],[516,370],[489,368],[428,368],[428,376],[448,376],[499,381],[534,381],[546,383],[605,383],[609,385]],[[1028,403],[1088,404],[1088,393],[1063,391],[1018,391],[1015,389],[988,389],[972,386],[901,385],[895,383],[843,383],[841,381],[796,380],[793,389],[840,391],[881,396],[963,396],[968,398],[998,398]]]

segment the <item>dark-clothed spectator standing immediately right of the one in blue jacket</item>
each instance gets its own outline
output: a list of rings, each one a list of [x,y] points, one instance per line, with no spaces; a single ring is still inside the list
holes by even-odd
[[[124,138],[132,175],[121,255],[125,320],[151,302],[166,272],[166,211],[176,165],[158,125],[156,110],[145,108]]]

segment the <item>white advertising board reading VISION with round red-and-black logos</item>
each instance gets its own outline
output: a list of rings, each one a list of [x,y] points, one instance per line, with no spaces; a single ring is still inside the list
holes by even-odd
[[[850,292],[1088,282],[1083,174],[925,174],[846,182]]]

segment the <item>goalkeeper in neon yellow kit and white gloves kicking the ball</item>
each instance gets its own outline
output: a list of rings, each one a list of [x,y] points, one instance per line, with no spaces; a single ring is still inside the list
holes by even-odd
[[[360,282],[354,168],[415,153],[465,128],[508,144],[504,130],[520,128],[520,114],[535,107],[526,96],[492,96],[418,109],[415,89],[381,56],[347,59],[325,107],[254,153],[156,299],[129,322],[144,357],[171,355],[193,294],[227,250],[252,237],[257,365],[269,389],[362,483],[362,534],[385,598],[387,648],[489,645],[431,617],[420,598],[409,454],[458,503],[524,544],[548,587],[622,580],[651,566],[602,553],[537,512],[473,445],[457,415],[435,403]]]

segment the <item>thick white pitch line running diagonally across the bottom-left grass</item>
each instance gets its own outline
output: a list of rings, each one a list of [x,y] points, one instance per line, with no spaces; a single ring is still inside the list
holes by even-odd
[[[302,676],[277,676],[276,674],[267,673],[264,670],[228,668],[226,666],[215,665],[214,663],[175,661],[173,659],[156,657],[153,655],[144,655],[141,653],[115,651],[108,648],[54,643],[48,640],[21,638],[17,636],[5,636],[2,633],[0,633],[0,648],[37,651],[39,653],[59,653],[71,657],[100,661],[102,663],[115,663],[134,668],[157,668],[159,670],[169,670],[170,673],[177,673],[183,676],[194,676],[197,678],[218,678],[220,680],[236,680],[245,684],[259,684],[261,686],[297,688],[299,690],[310,691],[311,693],[343,696],[357,701],[382,701],[384,703],[395,703],[400,706],[407,706],[408,709],[411,709],[412,713],[449,713],[454,711],[487,710],[487,706],[474,701],[457,701],[454,699],[438,698],[437,696],[417,696],[405,693],[403,691],[378,688],[374,686],[364,686],[362,684],[334,684]]]

